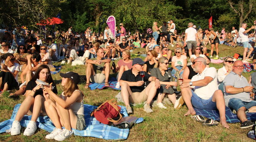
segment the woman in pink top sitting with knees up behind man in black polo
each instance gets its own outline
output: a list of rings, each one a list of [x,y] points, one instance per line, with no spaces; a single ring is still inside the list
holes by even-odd
[[[123,50],[122,57],[123,59],[119,60],[116,66],[116,72],[119,71],[119,73],[117,75],[117,85],[115,86],[115,88],[120,88],[119,82],[123,72],[127,71],[128,69],[131,69],[131,64],[133,63],[131,60],[131,54],[129,50]],[[111,69],[113,69],[113,66],[111,67]]]

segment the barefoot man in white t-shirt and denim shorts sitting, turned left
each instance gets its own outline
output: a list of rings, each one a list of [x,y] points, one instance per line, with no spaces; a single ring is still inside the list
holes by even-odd
[[[198,72],[190,82],[179,82],[181,84],[181,96],[188,107],[184,115],[195,115],[193,107],[197,109],[218,109],[220,123],[229,128],[225,117],[225,101],[221,90],[218,90],[217,71],[214,67],[206,68],[206,60],[197,57],[194,62],[194,71]],[[190,87],[194,89],[191,90]]]

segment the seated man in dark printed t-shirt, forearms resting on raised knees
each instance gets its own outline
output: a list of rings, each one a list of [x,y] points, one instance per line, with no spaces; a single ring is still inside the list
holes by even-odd
[[[103,59],[104,50],[98,48],[96,50],[97,57],[86,60],[86,85],[84,88],[89,88],[89,83],[103,83],[109,86],[110,60]]]

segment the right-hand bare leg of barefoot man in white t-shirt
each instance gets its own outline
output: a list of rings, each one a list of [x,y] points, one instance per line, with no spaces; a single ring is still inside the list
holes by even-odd
[[[220,124],[224,128],[229,128],[225,116],[225,100],[221,90],[216,90],[212,96],[212,101],[216,102],[217,109],[220,113]]]

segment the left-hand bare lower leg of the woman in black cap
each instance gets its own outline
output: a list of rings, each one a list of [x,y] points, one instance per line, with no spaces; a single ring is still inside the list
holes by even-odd
[[[56,104],[53,103],[51,99],[48,99],[44,102],[44,105],[45,105],[46,113],[52,120],[54,126],[58,129],[62,129],[62,125],[60,123],[60,117],[56,109]]]

